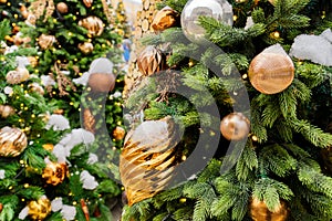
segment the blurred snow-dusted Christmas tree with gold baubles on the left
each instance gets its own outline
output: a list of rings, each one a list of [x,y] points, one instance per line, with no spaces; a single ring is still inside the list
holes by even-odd
[[[116,166],[110,166],[106,160],[111,156],[101,152],[113,154],[112,147],[121,145],[125,133],[123,127],[116,127],[122,124],[122,77],[115,78],[121,57],[116,43],[121,38],[97,20],[93,23],[102,29],[97,31],[101,34],[97,40],[83,24],[75,25],[72,17],[76,15],[70,13],[68,27],[59,24],[52,15],[59,15],[61,7],[54,11],[52,1],[35,2],[31,6],[38,6],[34,9],[41,10],[40,17],[30,9],[24,21],[28,27],[22,29],[31,38],[32,48],[6,45],[3,40],[11,32],[10,21],[4,20],[0,25],[3,67],[0,71],[0,220],[112,220],[111,206],[121,190],[110,178],[110,170],[116,171]],[[89,17],[83,7],[104,19],[103,7],[107,6],[94,3],[95,8],[82,2],[71,9],[80,9],[85,14],[81,18],[83,23],[83,18]],[[42,6],[50,17],[43,14]],[[44,18],[49,22],[43,23]],[[66,39],[71,34],[64,29],[73,31],[70,25],[80,30],[73,32],[74,39]],[[45,38],[35,38],[39,35]],[[77,48],[85,40],[94,46],[86,54]],[[37,44],[39,49],[34,48]],[[84,72],[87,75],[80,76]],[[62,85],[63,81],[69,86]],[[114,87],[115,93],[108,95]],[[110,105],[105,105],[107,102]]]

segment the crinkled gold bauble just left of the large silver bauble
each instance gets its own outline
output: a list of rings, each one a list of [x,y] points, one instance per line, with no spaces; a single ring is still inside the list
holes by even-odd
[[[154,17],[152,28],[154,31],[164,31],[179,23],[179,13],[169,7],[164,7]]]

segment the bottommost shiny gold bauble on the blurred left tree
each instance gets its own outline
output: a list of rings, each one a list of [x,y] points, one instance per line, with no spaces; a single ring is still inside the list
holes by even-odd
[[[32,220],[44,220],[51,212],[51,202],[48,198],[30,201],[28,214]]]

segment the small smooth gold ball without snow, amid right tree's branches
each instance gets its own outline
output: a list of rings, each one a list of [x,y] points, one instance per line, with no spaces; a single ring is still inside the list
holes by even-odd
[[[250,122],[241,113],[231,113],[222,118],[220,130],[226,139],[240,140],[248,136]]]

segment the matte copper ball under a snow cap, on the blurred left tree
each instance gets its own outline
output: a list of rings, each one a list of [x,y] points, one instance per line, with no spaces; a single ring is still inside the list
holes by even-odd
[[[89,86],[94,92],[111,92],[115,86],[114,74],[93,73],[89,77]]]

